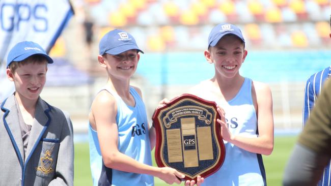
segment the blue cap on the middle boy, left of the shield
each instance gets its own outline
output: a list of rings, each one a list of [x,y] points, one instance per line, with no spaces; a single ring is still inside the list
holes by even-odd
[[[144,53],[137,44],[134,38],[127,32],[120,29],[114,29],[105,34],[99,43],[99,54],[104,53],[117,55],[127,50],[136,49]]]

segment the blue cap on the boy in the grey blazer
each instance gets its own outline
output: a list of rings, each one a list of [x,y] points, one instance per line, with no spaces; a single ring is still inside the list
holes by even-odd
[[[53,63],[53,59],[46,54],[45,50],[38,43],[32,41],[23,41],[17,43],[9,51],[7,56],[7,68],[13,61],[22,61],[32,55],[42,55],[46,57],[49,64]]]

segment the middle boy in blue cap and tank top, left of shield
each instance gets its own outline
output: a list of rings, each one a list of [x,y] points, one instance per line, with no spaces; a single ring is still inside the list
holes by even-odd
[[[148,125],[141,90],[130,85],[139,52],[134,38],[119,29],[99,43],[98,61],[108,79],[89,114],[93,185],[154,185],[153,176],[172,184],[184,178],[175,169],[152,166],[155,129]]]

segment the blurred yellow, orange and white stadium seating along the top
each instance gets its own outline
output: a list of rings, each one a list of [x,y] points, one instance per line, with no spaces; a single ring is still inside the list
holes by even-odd
[[[91,14],[100,30],[110,26],[133,32],[135,38],[143,38],[139,44],[150,51],[205,49],[210,29],[220,22],[242,28],[247,46],[253,49],[331,45],[328,36],[331,3],[327,0],[121,0],[116,4],[87,0],[86,3],[93,5]]]

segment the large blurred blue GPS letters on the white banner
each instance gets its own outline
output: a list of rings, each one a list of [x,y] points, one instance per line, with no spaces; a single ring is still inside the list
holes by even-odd
[[[20,24],[29,24],[33,19],[33,30],[35,32],[46,32],[48,21],[46,18],[48,8],[44,4],[14,4],[4,3],[1,6],[1,28],[7,32],[12,32],[14,27],[19,30]]]

